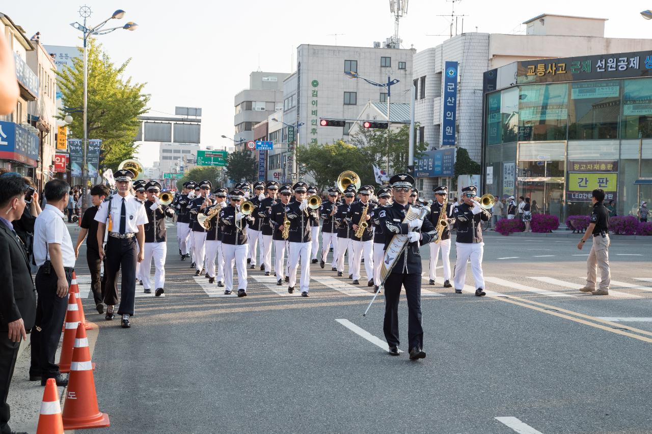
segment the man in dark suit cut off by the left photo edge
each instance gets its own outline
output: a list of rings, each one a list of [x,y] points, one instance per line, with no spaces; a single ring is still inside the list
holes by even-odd
[[[36,295],[22,242],[13,229],[25,209],[27,185],[21,177],[0,178],[0,433],[9,427],[7,396],[20,342],[34,325]]]

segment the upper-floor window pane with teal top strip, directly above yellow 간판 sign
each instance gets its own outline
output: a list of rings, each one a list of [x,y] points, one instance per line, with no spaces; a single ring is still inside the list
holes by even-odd
[[[571,83],[569,139],[616,139],[620,81]]]

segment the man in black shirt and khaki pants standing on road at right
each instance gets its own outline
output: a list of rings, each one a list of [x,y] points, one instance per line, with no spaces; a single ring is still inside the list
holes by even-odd
[[[604,190],[597,188],[591,193],[593,212],[591,213],[591,224],[587,227],[584,237],[580,240],[577,248],[582,250],[584,243],[590,235],[593,235],[593,246],[587,261],[586,285],[581,288],[583,293],[593,295],[609,295],[609,284],[611,283],[611,272],[609,271],[609,210],[604,207]],[[597,285],[597,268],[600,268],[600,286]]]

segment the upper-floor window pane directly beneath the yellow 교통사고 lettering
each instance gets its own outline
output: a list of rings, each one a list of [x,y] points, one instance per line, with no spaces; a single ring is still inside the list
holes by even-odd
[[[518,139],[565,140],[568,127],[568,85],[519,87]]]

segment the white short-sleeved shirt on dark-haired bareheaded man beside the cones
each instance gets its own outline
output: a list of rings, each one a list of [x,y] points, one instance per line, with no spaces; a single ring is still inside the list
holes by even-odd
[[[38,214],[34,223],[34,261],[38,267],[43,265],[46,259],[51,259],[48,244],[59,244],[63,266],[74,268],[75,251],[68,228],[63,222],[63,212],[50,204]]]

